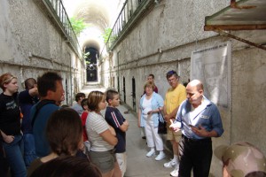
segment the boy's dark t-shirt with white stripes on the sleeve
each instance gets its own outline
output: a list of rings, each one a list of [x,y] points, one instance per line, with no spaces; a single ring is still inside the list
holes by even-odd
[[[121,112],[117,108],[106,107],[106,122],[112,126],[115,130],[116,137],[118,139],[115,145],[115,153],[123,153],[126,151],[126,133],[121,131],[120,127],[126,120],[121,115]]]

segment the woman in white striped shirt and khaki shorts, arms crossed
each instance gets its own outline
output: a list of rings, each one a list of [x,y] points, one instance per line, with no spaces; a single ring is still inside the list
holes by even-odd
[[[101,110],[106,109],[104,93],[100,91],[90,92],[88,106],[90,113],[85,126],[90,141],[90,160],[98,166],[103,177],[121,176],[119,165],[113,153],[113,147],[117,143],[115,131],[100,113]]]

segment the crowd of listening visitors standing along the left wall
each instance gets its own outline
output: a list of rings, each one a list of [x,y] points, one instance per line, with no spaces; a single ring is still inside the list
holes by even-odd
[[[66,166],[73,169],[68,176],[124,175],[129,123],[116,108],[117,91],[92,91],[88,98],[78,93],[73,107],[61,107],[65,90],[58,73],[27,79],[20,94],[12,73],[1,75],[0,84],[1,176],[60,176]]]

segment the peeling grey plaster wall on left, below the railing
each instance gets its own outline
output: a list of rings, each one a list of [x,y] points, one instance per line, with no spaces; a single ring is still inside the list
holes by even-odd
[[[67,82],[67,104],[72,104],[85,73],[66,37],[33,0],[0,1],[0,14],[0,73],[19,76],[22,90],[28,77],[59,72],[65,89]]]

